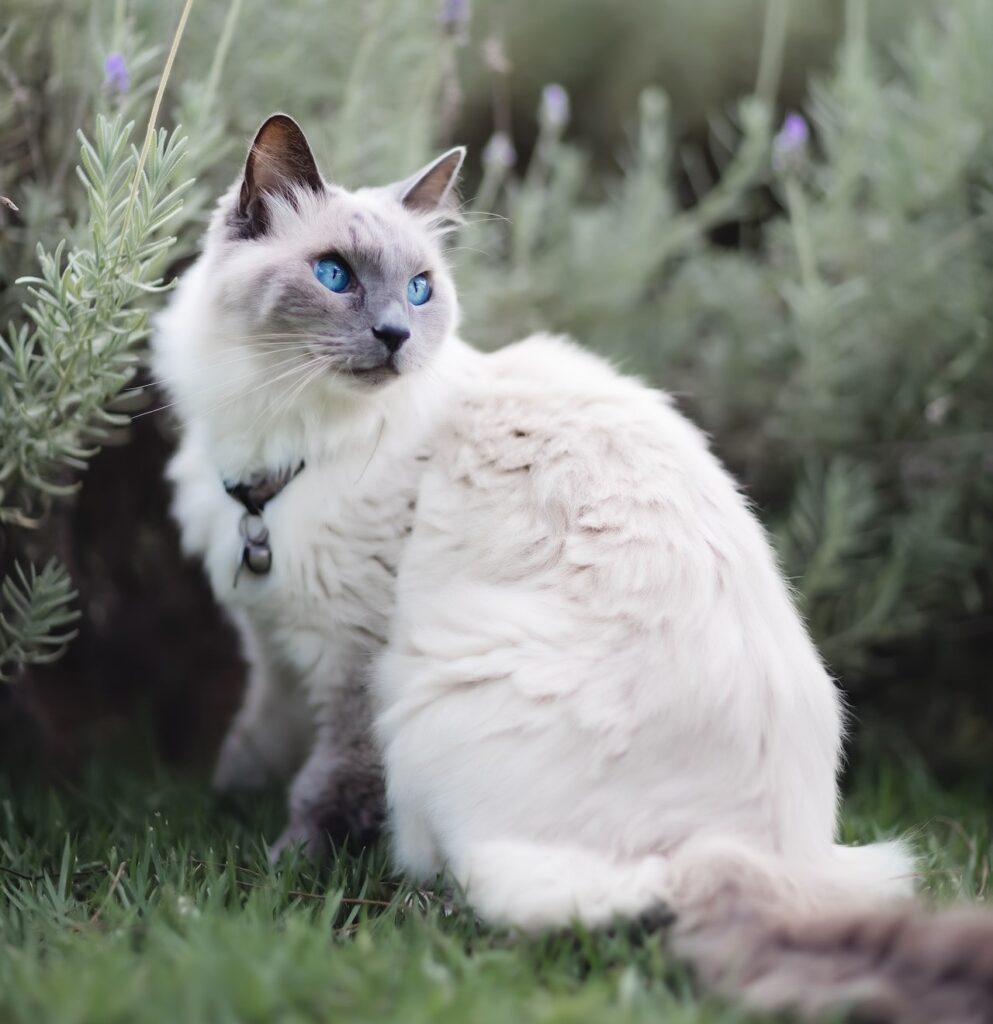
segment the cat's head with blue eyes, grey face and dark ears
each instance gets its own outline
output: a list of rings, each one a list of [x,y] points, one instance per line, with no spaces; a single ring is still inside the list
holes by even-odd
[[[273,380],[306,371],[369,390],[429,364],[458,321],[442,240],[464,157],[349,191],[323,179],[292,118],[270,117],[208,234],[212,326]]]

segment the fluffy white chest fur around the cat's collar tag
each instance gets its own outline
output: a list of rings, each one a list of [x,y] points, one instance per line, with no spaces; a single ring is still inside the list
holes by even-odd
[[[198,450],[170,468],[183,547],[203,558],[218,600],[247,615],[272,656],[301,676],[328,675],[321,658],[361,659],[386,642],[396,566],[415,514],[425,456],[411,439],[308,459],[265,507],[272,564],[242,565],[245,510]]]

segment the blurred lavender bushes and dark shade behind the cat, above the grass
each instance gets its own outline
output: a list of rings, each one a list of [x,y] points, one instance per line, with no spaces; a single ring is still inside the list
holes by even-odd
[[[134,195],[182,4],[2,6],[5,750],[200,767],[236,706],[168,519],[145,286],[282,110],[346,185],[468,142],[465,338],[567,331],[674,392],[771,531],[857,751],[993,783],[989,0],[198,0]]]

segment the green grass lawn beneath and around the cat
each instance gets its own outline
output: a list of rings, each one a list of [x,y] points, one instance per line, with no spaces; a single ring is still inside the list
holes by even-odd
[[[268,866],[275,799],[92,769],[0,775],[0,1022],[754,1021],[701,998],[656,935],[524,939],[402,885],[385,851]],[[846,838],[913,830],[926,888],[983,897],[982,801],[917,768],[856,785]]]

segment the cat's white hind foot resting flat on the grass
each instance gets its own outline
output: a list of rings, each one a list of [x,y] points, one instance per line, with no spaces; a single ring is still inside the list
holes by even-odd
[[[537,932],[580,921],[597,928],[664,907],[666,861],[519,840],[479,842],[449,864],[483,920]]]

